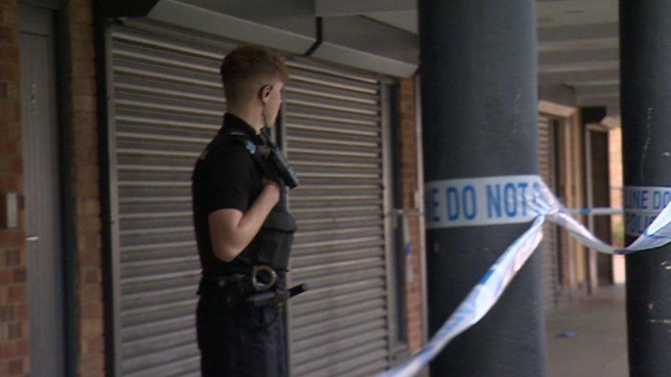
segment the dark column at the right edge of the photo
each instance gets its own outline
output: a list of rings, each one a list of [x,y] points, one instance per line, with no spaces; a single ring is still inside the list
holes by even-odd
[[[619,7],[624,184],[671,187],[671,1]],[[630,376],[671,376],[671,245],[628,255],[626,271]]]

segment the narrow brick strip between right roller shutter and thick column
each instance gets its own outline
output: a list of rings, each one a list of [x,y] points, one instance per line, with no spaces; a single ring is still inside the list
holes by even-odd
[[[417,198],[417,118],[415,108],[415,79],[408,78],[399,82],[399,161],[401,175],[401,193],[403,195],[403,207],[410,217],[408,225],[410,228],[410,242],[412,253],[410,255],[410,266],[412,266],[412,282],[406,282],[406,313],[408,318],[408,341],[410,350],[415,352],[422,345],[422,315],[421,315],[421,281],[419,242],[419,204]],[[406,267],[408,264],[406,264]]]

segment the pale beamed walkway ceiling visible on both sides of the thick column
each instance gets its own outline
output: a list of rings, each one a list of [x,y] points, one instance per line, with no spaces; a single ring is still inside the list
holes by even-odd
[[[325,17],[364,16],[417,34],[415,0],[314,0]],[[606,106],[619,124],[617,0],[538,0],[541,87],[569,87],[580,106]]]

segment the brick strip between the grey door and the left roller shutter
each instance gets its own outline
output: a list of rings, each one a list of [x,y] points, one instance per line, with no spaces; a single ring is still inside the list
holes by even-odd
[[[71,0],[67,12],[72,93],[73,190],[78,260],[79,373],[104,376],[102,240],[98,168],[96,49],[91,0]]]

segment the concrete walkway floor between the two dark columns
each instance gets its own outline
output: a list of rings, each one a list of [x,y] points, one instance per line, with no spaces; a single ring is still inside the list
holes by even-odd
[[[626,377],[624,286],[600,288],[546,317],[549,377]],[[575,332],[575,337],[558,336]]]

